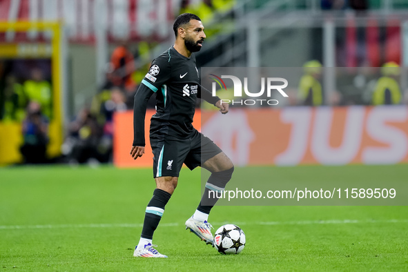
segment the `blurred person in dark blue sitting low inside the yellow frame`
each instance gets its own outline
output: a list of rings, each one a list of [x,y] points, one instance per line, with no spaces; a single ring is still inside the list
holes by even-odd
[[[20,151],[27,164],[47,162],[46,150],[48,144],[48,122],[41,113],[41,106],[36,101],[30,101],[27,117],[23,121],[23,146]]]

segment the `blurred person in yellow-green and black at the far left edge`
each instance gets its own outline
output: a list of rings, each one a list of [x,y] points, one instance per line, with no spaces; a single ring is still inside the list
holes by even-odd
[[[17,82],[14,75],[8,75],[4,88],[3,121],[23,121],[26,117],[27,103],[28,99],[24,94],[23,86]]]

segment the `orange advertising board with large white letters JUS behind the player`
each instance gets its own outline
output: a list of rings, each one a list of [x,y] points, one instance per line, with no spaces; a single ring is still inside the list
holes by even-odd
[[[136,162],[129,155],[133,113],[115,115],[116,166],[152,166],[148,126],[154,112],[146,115],[146,153]],[[407,106],[231,108],[226,115],[196,110],[195,128],[236,166],[408,162]]]

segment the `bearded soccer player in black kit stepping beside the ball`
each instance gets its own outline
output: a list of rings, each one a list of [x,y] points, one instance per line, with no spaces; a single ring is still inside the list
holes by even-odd
[[[234,170],[231,159],[192,125],[197,97],[220,108],[222,114],[229,111],[228,104],[222,104],[219,97],[213,97],[210,91],[200,86],[200,75],[192,53],[202,48],[206,38],[201,19],[195,14],[181,14],[175,19],[173,30],[174,46],[153,60],[135,95],[135,135],[130,150],[133,159],[144,154],[146,104],[153,93],[157,94],[157,111],[150,120],[156,189],[146,208],[142,235],[133,253],[135,257],[167,257],[153,249],[153,233],[177,186],[183,163],[191,170],[201,166],[211,172],[197,210],[186,221],[186,229],[207,244],[213,244],[212,226],[207,220],[217,198],[209,197],[208,191],[223,191]]]

